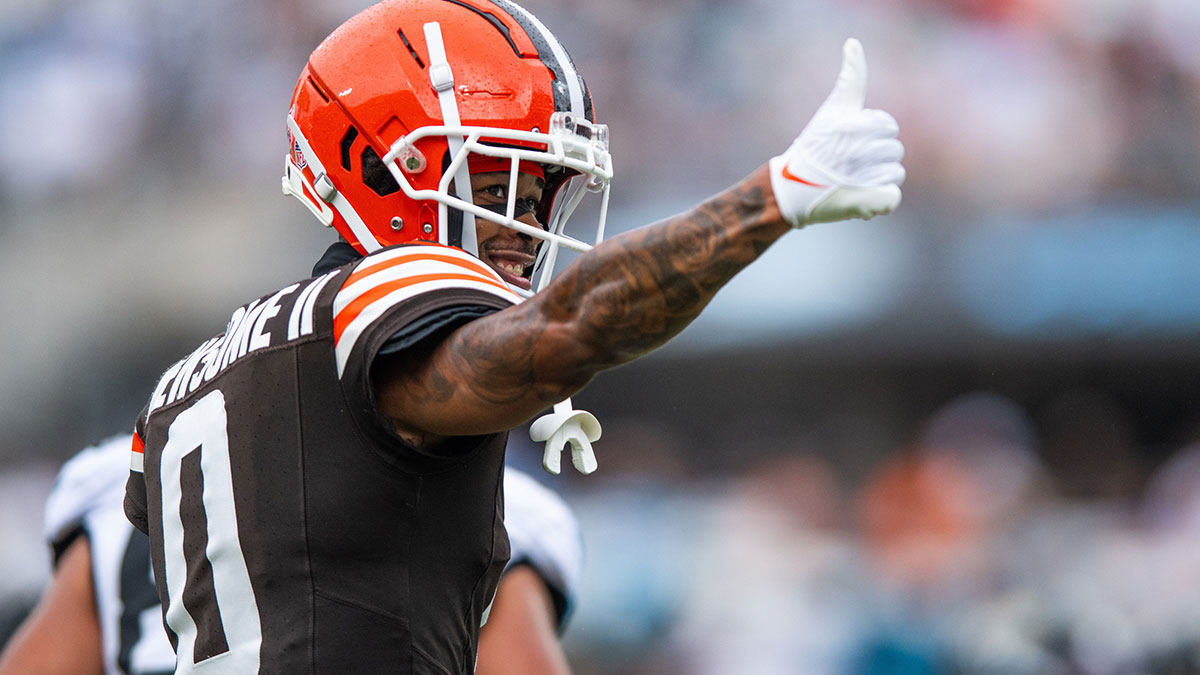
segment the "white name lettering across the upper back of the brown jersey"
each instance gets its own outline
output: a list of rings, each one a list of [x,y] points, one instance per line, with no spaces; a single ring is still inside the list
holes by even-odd
[[[200,345],[187,358],[167,369],[158,380],[150,411],[196,392],[246,354],[283,345],[313,331],[313,305],[337,270],[293,283],[266,298],[234,310],[226,331]],[[284,317],[287,321],[284,321]]]

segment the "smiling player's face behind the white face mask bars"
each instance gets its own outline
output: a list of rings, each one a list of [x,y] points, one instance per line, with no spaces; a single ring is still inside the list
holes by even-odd
[[[518,221],[542,227],[532,209],[541,201],[546,184],[528,173],[517,174],[517,211],[530,209],[517,217]],[[475,203],[481,207],[508,204],[509,173],[476,173],[470,177],[470,187]],[[504,281],[518,288],[529,288],[529,276],[538,256],[541,239],[522,234],[503,225],[486,219],[475,219],[475,237],[479,240],[479,257],[488,267],[499,273]]]

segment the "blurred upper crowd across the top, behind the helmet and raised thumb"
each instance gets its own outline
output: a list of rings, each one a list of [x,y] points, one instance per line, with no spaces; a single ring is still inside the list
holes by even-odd
[[[626,201],[703,195],[776,153],[847,35],[868,49],[869,103],[901,123],[908,202],[961,221],[1200,193],[1200,8],[1187,0],[527,4],[587,74]],[[6,2],[0,195],[277,171],[269,130],[283,133],[295,74],[362,5]]]

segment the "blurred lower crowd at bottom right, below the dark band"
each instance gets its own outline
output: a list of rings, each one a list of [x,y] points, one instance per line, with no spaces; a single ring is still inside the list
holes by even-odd
[[[1148,465],[1122,424],[976,392],[869,467],[748,437],[698,479],[678,438],[620,435],[569,492],[580,673],[1200,673],[1200,443]]]

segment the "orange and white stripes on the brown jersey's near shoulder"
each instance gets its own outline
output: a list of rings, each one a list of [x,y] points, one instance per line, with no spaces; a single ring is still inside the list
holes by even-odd
[[[479,258],[452,246],[403,246],[364,258],[334,297],[337,376],[366,329],[389,309],[432,291],[470,288],[517,304],[522,300]]]

